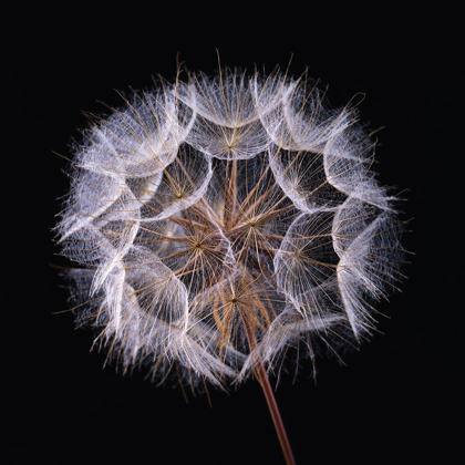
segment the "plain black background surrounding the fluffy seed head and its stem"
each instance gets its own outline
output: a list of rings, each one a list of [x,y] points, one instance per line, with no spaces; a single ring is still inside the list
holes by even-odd
[[[286,7],[286,10],[280,9]],[[28,10],[2,40],[3,360],[11,463],[281,464],[260,388],[189,397],[143,374],[103,369],[91,334],[74,330],[51,228],[82,112],[117,105],[116,91],[173,81],[176,63],[275,65],[329,85],[333,106],[364,94],[376,169],[402,192],[407,279],[380,310],[382,334],[303,366],[276,396],[298,464],[451,463],[463,438],[463,42],[458,12],[388,7],[275,11],[116,7]],[[183,14],[184,12],[184,14]],[[19,19],[21,18],[21,19]],[[178,55],[178,59],[177,59]],[[291,60],[292,56],[292,60]]]

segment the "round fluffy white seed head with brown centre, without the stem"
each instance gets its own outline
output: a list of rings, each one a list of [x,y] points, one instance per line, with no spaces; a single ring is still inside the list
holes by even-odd
[[[361,341],[402,251],[373,153],[306,74],[134,93],[75,148],[58,232],[79,322],[125,370],[218,386]]]

